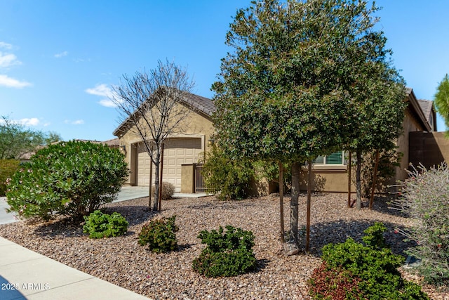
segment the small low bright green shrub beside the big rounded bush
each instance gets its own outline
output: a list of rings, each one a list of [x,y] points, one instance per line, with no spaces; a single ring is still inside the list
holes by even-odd
[[[119,214],[103,214],[101,211],[93,211],[89,216],[84,216],[86,223],[83,233],[88,233],[91,238],[117,237],[124,235],[128,230],[128,221]]]

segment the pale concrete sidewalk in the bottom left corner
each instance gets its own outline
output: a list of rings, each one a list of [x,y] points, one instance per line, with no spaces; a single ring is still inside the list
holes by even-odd
[[[0,299],[148,299],[0,237]]]

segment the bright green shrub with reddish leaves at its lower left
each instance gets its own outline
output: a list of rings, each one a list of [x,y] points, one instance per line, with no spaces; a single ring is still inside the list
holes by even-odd
[[[401,277],[397,268],[404,258],[386,247],[382,237],[385,229],[382,223],[376,223],[365,230],[363,241],[366,244],[349,237],[344,243],[324,246],[321,256],[324,265],[309,280],[311,296],[323,299],[326,293],[334,291],[349,293],[347,298],[340,299],[429,299],[419,285]],[[335,273],[340,273],[339,277],[333,278]],[[342,287],[335,289],[331,285],[339,279],[344,280],[349,289],[342,291],[339,289]]]

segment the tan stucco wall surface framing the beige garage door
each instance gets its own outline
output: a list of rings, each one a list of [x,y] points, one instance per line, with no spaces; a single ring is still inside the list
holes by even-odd
[[[169,138],[201,138],[201,148],[204,152],[208,150],[208,141],[214,132],[215,129],[213,128],[210,116],[205,115],[202,112],[192,111],[186,118],[186,122],[180,126],[179,132],[169,136]],[[136,146],[142,141],[142,138],[137,133],[134,126],[121,134],[122,135],[118,136],[118,138],[120,140],[120,145],[124,145],[126,148],[126,151],[124,151],[126,156],[125,161],[130,167],[130,176],[128,177],[127,183],[135,185],[137,184]]]

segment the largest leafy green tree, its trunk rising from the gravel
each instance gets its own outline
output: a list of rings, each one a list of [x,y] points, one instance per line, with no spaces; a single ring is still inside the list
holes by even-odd
[[[236,13],[227,33],[234,51],[213,85],[218,142],[235,158],[291,163],[296,246],[300,167],[351,144],[365,104],[357,87],[381,68],[375,11],[355,0],[257,1]]]

